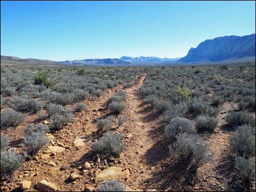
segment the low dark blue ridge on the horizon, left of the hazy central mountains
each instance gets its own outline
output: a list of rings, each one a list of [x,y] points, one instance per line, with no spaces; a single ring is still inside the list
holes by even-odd
[[[67,60],[60,61],[60,63],[72,64],[72,65],[128,65],[127,61],[120,59],[82,59],[82,60]]]

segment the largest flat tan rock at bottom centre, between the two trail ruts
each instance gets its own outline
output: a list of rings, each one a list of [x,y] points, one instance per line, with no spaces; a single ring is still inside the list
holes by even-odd
[[[106,181],[107,179],[126,178],[130,175],[129,170],[122,171],[121,168],[112,166],[111,168],[103,171],[96,172],[95,183],[99,181]]]

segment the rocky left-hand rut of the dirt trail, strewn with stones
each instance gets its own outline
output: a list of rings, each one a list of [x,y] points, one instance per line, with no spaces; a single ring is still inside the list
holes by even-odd
[[[97,130],[95,119],[106,115],[107,98],[117,93],[120,89],[123,89],[123,85],[107,90],[94,101],[84,101],[88,105],[88,110],[76,113],[74,120],[64,126],[59,132],[48,134],[48,137],[51,138],[50,144],[41,148],[35,156],[37,159],[34,158],[22,164],[15,172],[16,180],[18,182],[23,180],[31,181],[33,187],[33,184],[46,179],[48,182],[56,184],[58,189],[62,191],[84,190],[84,183],[73,182],[72,184],[67,184],[67,178],[72,172],[72,167],[76,167],[76,162],[80,162],[83,155],[90,150],[89,144],[92,141],[90,138],[92,135],[95,135]],[[80,137],[86,139],[86,144],[81,147],[74,146],[74,141]],[[63,152],[57,152],[55,156],[44,160],[42,156],[44,151],[49,151],[47,147],[50,145],[64,146],[65,148]],[[47,165],[51,161],[56,163],[56,166]],[[62,166],[66,166],[66,170],[60,171]],[[11,187],[11,190],[13,189],[19,189],[17,188],[17,182],[14,182],[13,187]],[[29,190],[35,190],[35,188]]]

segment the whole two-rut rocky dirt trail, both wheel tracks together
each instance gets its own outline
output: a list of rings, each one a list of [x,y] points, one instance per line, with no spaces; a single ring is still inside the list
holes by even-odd
[[[149,131],[150,128],[155,127],[157,121],[147,120],[150,110],[147,110],[147,104],[143,104],[143,100],[139,96],[139,87],[143,84],[145,76],[146,74],[143,75],[138,84],[125,89],[127,100],[123,115],[126,116],[126,123],[117,129],[118,132],[124,134],[127,144],[126,150],[120,156],[122,163],[118,166],[130,170],[129,179],[125,184],[132,189],[145,189],[142,183],[151,177],[153,170],[148,165],[149,157],[147,157],[149,149],[154,145]],[[34,191],[36,188],[33,185],[42,179],[56,184],[58,189],[62,191],[84,190],[87,183],[94,185],[93,180],[90,181],[90,174],[82,176],[76,182],[69,181],[69,176],[72,172],[80,169],[85,159],[92,160],[90,143],[102,136],[97,133],[95,120],[108,115],[107,98],[120,89],[123,89],[123,86],[120,85],[117,88],[107,90],[95,101],[84,101],[88,105],[87,111],[76,113],[74,120],[64,126],[62,130],[48,134],[48,137],[51,138],[50,144],[41,148],[33,160],[23,163],[15,172],[16,182],[12,185],[11,190],[19,190],[17,183],[24,180],[32,182],[33,189],[29,190]],[[85,139],[85,144],[80,147],[74,146],[74,141],[77,138]],[[48,146],[50,145],[63,147],[64,151],[47,156],[45,151],[49,151]],[[44,156],[47,157],[43,158]],[[56,166],[49,165],[49,162],[56,163]]]

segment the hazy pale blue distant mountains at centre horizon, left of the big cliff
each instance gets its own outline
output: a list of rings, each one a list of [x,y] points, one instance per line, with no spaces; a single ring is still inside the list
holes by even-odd
[[[145,64],[150,64],[150,63],[164,63],[166,61],[176,61],[176,60],[179,60],[180,58],[173,58],[173,59],[170,59],[170,58],[159,58],[159,57],[126,57],[126,56],[123,56],[120,58],[120,60],[123,60],[123,61],[127,61],[127,62],[130,62],[130,63],[139,63],[139,64],[142,64],[142,63],[145,63]]]

